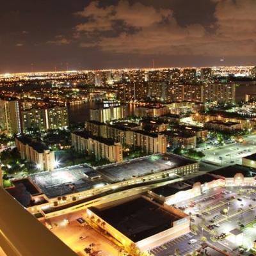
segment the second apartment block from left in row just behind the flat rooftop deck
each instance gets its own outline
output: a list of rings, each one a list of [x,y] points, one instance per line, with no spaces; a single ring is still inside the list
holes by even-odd
[[[122,163],[122,145],[111,139],[93,136],[88,132],[73,132],[71,134],[72,147],[77,152],[95,156],[95,159],[108,159],[111,163]]]

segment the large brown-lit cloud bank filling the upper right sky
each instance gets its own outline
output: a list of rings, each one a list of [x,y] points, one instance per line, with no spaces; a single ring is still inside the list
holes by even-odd
[[[256,1],[211,1],[216,4],[211,29],[200,24],[180,26],[170,9],[120,0],[115,6],[100,6],[99,1],[93,1],[76,13],[86,19],[76,26],[76,32],[81,47],[108,52],[255,56]]]

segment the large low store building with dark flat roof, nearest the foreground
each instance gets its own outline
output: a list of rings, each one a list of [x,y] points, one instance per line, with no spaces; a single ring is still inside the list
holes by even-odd
[[[88,220],[108,232],[131,252],[132,246],[145,252],[190,232],[189,216],[172,211],[146,197],[124,198],[86,209]]]

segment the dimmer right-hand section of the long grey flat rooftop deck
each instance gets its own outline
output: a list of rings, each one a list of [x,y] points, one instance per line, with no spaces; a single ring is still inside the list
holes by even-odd
[[[99,167],[100,173],[106,175],[108,179],[124,180],[132,177],[144,176],[150,173],[163,172],[188,164],[196,163],[193,160],[185,157],[180,157],[175,154],[157,154],[140,159],[131,160],[122,164],[110,164],[105,167]]]

